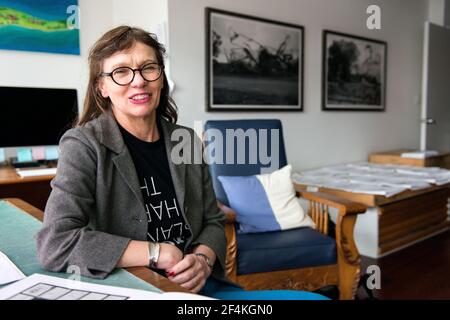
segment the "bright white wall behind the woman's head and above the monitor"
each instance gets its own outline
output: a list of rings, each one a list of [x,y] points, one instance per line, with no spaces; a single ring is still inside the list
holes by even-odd
[[[78,3],[81,54],[0,50],[0,86],[74,88],[78,90],[81,111],[89,75],[89,49],[104,32],[121,24],[167,32],[157,29],[167,21],[165,0],[79,0]],[[0,110],[0,125],[1,121]],[[15,156],[15,152],[15,148],[6,149],[7,157]]]

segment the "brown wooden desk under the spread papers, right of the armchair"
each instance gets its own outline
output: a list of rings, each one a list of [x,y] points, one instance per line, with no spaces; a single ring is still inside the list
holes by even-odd
[[[306,185],[295,184],[296,191]],[[380,258],[449,229],[447,199],[450,183],[392,197],[354,193],[329,188],[317,191],[369,206],[358,216],[355,241],[361,255]]]

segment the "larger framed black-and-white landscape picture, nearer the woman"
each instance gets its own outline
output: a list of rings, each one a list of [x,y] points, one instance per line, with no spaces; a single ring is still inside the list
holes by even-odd
[[[302,26],[206,8],[206,110],[302,111]]]

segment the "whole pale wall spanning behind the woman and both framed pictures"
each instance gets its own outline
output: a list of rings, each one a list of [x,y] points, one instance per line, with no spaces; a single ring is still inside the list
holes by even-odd
[[[382,9],[380,31],[365,27],[366,8],[373,3]],[[90,46],[111,27],[131,24],[157,32],[168,42],[170,75],[182,124],[193,126],[195,120],[206,119],[280,118],[289,162],[297,170],[365,160],[374,151],[419,146],[417,102],[426,0],[79,0],[79,4],[81,55],[0,50],[0,86],[77,88],[81,106]],[[204,111],[206,6],[305,27],[304,112]],[[164,24],[165,29],[158,30]],[[322,29],[388,42],[386,112],[321,111]]]

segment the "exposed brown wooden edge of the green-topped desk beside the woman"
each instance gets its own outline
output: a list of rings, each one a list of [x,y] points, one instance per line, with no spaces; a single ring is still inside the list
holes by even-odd
[[[35,217],[36,219],[42,221],[44,219],[44,212],[39,210],[38,208],[30,205],[29,203],[17,199],[17,198],[8,198],[4,199],[21,209],[22,211],[28,213],[29,215]],[[151,285],[161,289],[165,292],[176,291],[176,292],[190,292],[189,290],[173,283],[172,281],[164,278],[163,276],[157,274],[156,272],[145,268],[145,267],[132,267],[125,268],[128,272],[132,273],[136,277],[150,283]]]

